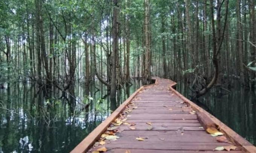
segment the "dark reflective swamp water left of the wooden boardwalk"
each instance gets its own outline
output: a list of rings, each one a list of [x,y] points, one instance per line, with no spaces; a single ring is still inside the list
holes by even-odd
[[[44,98],[33,84],[0,90],[0,153],[68,153],[140,86],[137,80],[125,86],[116,101],[98,82],[90,88],[77,85],[70,92],[75,96],[66,99],[59,99],[57,90],[54,98]]]

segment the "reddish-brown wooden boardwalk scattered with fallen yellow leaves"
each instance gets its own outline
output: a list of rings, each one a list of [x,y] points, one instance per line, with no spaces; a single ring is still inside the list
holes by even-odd
[[[175,84],[158,78],[137,90],[72,153],[213,153],[225,146],[236,146],[232,153],[256,153],[250,142],[174,90]],[[209,127],[229,142],[207,133]]]

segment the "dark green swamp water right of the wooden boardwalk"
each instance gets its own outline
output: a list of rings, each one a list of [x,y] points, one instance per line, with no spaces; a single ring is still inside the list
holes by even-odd
[[[212,89],[195,103],[256,145],[256,91],[232,85],[231,93]],[[190,99],[191,90],[184,83],[178,83],[177,90]]]

